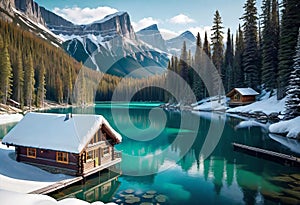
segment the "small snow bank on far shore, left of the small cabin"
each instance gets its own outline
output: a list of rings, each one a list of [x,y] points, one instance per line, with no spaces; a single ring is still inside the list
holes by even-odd
[[[195,111],[222,111],[226,110],[226,97],[221,96],[221,101],[219,102],[219,97],[214,96],[210,98],[205,98],[198,103],[192,104],[193,110]]]

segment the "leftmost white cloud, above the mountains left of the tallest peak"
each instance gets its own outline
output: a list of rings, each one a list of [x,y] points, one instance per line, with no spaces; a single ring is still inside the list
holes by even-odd
[[[107,6],[97,8],[79,8],[75,6],[63,9],[56,7],[53,12],[75,24],[88,24],[103,19],[109,14],[116,13],[118,10]]]

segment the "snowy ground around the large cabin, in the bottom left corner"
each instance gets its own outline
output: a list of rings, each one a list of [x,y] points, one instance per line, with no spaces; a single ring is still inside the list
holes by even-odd
[[[14,147],[7,148],[0,142],[0,202],[1,205],[10,204],[49,204],[49,205],[89,205],[79,199],[64,199],[56,201],[54,198],[40,194],[28,194],[37,189],[49,186],[58,181],[71,180],[73,177],[63,174],[52,174],[37,167],[16,162],[13,159]],[[94,202],[93,205],[103,205]],[[114,204],[114,203],[109,203]]]

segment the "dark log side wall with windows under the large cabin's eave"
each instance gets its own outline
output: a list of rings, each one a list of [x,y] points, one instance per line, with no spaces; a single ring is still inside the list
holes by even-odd
[[[68,153],[68,163],[56,161],[56,151],[36,149],[36,157],[27,156],[27,147],[18,147],[16,150],[17,160],[30,163],[56,173],[76,175],[78,172],[78,154]]]

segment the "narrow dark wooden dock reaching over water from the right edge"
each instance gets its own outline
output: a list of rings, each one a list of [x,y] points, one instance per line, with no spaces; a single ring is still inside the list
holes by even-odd
[[[300,167],[300,158],[292,155],[282,154],[282,153],[265,150],[257,147],[251,147],[251,146],[238,144],[238,143],[232,143],[232,146],[235,151],[239,151],[255,157],[267,159],[286,166]]]

